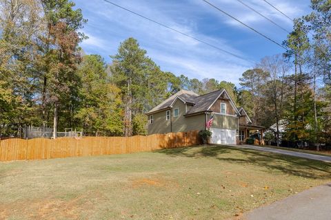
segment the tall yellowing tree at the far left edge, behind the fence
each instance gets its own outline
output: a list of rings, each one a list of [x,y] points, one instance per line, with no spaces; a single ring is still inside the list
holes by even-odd
[[[10,135],[20,135],[23,124],[35,119],[30,117],[36,111],[33,98],[37,84],[34,69],[37,44],[34,39],[39,34],[35,27],[42,25],[41,20],[39,1],[0,1],[1,85],[6,94],[4,100],[10,100],[2,102],[4,106],[0,107],[3,109],[0,117],[6,118],[0,126],[12,128]],[[4,109],[10,109],[8,114]]]

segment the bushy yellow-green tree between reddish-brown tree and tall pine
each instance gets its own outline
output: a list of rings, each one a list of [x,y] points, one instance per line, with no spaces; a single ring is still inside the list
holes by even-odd
[[[99,55],[83,56],[75,119],[88,135],[121,135],[120,89],[110,83],[106,63]]]

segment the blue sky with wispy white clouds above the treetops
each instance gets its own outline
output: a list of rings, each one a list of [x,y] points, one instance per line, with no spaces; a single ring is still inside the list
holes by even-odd
[[[110,0],[171,28],[185,32],[224,50],[254,62],[264,56],[284,50],[230,19],[201,0]],[[292,30],[292,21],[262,0],[241,0],[255,10]],[[103,0],[74,0],[88,19],[82,32],[89,39],[81,43],[86,54],[100,54],[110,63],[110,55],[117,53],[119,43],[132,36],[147,50],[148,56],[161,67],[177,76],[189,78],[216,78],[238,83],[239,77],[254,64],[243,61],[208,45],[168,30],[155,23],[130,14]],[[210,0],[237,19],[281,43],[287,33],[245,8],[237,0]],[[291,18],[310,12],[309,0],[269,0]]]

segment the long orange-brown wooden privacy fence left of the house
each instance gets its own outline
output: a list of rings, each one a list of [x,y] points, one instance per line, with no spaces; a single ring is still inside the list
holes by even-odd
[[[133,137],[61,137],[0,140],[0,161],[50,159],[154,151],[199,144],[198,131]]]

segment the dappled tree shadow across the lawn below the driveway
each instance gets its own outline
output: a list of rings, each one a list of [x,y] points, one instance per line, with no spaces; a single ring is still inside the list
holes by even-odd
[[[214,158],[223,162],[236,164],[253,164],[268,171],[278,171],[287,175],[295,175],[310,179],[330,179],[331,164],[312,159],[255,151],[235,146],[193,146],[171,148],[155,151],[170,156],[192,158]]]

